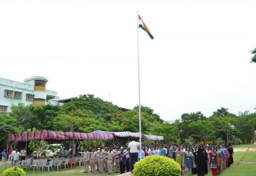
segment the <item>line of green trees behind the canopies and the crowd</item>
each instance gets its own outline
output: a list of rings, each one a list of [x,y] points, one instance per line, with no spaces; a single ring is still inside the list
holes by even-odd
[[[138,106],[121,112],[118,106],[94,95],[80,95],[62,106],[46,104],[12,105],[11,113],[0,114],[0,138],[28,129],[48,129],[90,133],[104,131],[139,131]],[[173,124],[164,122],[150,107],[141,107],[142,132],[164,136],[166,143],[248,143],[256,130],[256,113],[228,112],[217,109],[206,117],[201,112],[184,113]]]

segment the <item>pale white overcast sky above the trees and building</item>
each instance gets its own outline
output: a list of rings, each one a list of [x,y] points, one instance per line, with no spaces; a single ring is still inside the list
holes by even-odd
[[[124,108],[138,98],[163,120],[238,114],[256,105],[254,0],[0,0],[0,77],[49,79],[60,99],[94,94]]]

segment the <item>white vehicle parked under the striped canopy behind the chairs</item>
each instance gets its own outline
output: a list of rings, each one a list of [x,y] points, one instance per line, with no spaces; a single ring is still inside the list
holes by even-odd
[[[48,144],[42,146],[42,153],[45,153],[46,157],[54,157],[59,155],[60,149],[61,149],[61,144]],[[33,151],[32,156],[34,158],[37,158],[38,151]],[[41,157],[41,153],[39,153],[39,158]]]

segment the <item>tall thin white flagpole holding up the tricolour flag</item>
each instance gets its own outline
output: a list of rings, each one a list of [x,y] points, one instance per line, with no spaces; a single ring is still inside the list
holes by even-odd
[[[138,47],[138,83],[139,83],[139,130],[140,130],[140,159],[141,159],[141,109],[140,109],[140,54],[139,54],[139,12],[137,11],[137,47]]]

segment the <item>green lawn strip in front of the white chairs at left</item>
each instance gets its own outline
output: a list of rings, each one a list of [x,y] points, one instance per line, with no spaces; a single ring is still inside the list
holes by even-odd
[[[0,166],[0,175],[2,175],[3,171],[5,169],[5,166]],[[106,175],[118,175],[119,173],[113,173],[113,174],[108,174],[107,172],[104,172],[104,173],[82,173],[83,172],[83,167],[74,167],[72,169],[60,169],[59,171],[57,170],[54,170],[54,171],[40,171],[40,172],[34,172],[33,174],[33,171],[27,171],[27,174],[26,176],[78,176],[78,175],[99,175],[99,176],[106,176]]]

